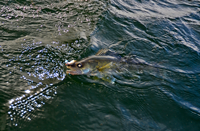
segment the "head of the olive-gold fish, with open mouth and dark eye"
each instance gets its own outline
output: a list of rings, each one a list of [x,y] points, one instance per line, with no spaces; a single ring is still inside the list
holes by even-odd
[[[65,62],[65,65],[67,67],[66,73],[71,75],[84,75],[92,70],[91,64],[87,61],[72,60]]]

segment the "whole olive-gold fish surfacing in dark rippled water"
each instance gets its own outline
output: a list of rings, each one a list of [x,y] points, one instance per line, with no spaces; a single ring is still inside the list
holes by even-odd
[[[147,65],[144,61],[136,58],[124,58],[119,54],[109,50],[101,49],[97,54],[83,58],[80,61],[65,61],[66,74],[71,75],[102,75],[109,71],[120,71],[124,67],[130,67],[134,70],[142,70]]]

